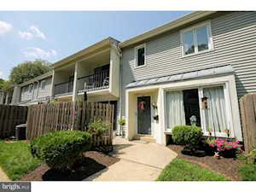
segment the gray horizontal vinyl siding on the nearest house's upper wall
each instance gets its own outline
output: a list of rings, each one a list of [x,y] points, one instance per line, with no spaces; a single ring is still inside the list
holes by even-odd
[[[132,81],[185,73],[206,67],[232,65],[238,97],[256,91],[256,12],[230,12],[211,19],[214,50],[182,57],[180,30],[146,44],[146,66],[135,68],[134,47],[123,49],[122,112],[125,85]]]

